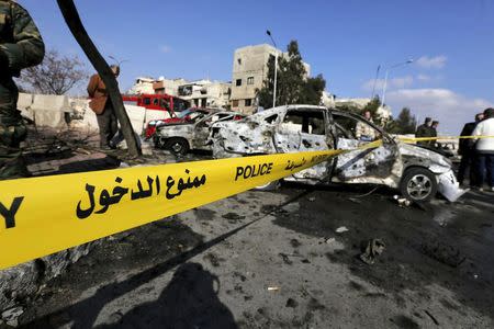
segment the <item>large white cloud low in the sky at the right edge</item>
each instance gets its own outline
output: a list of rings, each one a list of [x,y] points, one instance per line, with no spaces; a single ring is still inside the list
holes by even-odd
[[[449,89],[400,89],[386,93],[386,103],[397,115],[404,106],[409,107],[419,123],[426,116],[439,121],[439,132],[458,135],[464,123],[472,122],[476,113],[493,103],[484,99],[469,99]]]

